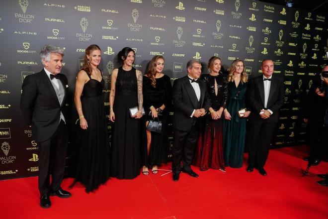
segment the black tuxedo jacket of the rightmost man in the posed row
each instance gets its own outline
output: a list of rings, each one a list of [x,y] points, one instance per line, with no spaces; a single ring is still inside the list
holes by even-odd
[[[248,83],[248,108],[251,111],[249,115],[249,122],[252,124],[257,123],[259,120],[263,120],[259,112],[264,109],[264,85],[263,75],[251,78]],[[272,75],[269,98],[267,103],[267,109],[270,109],[273,114],[269,118],[265,119],[269,123],[278,122],[279,109],[284,103],[284,80],[282,77]]]

